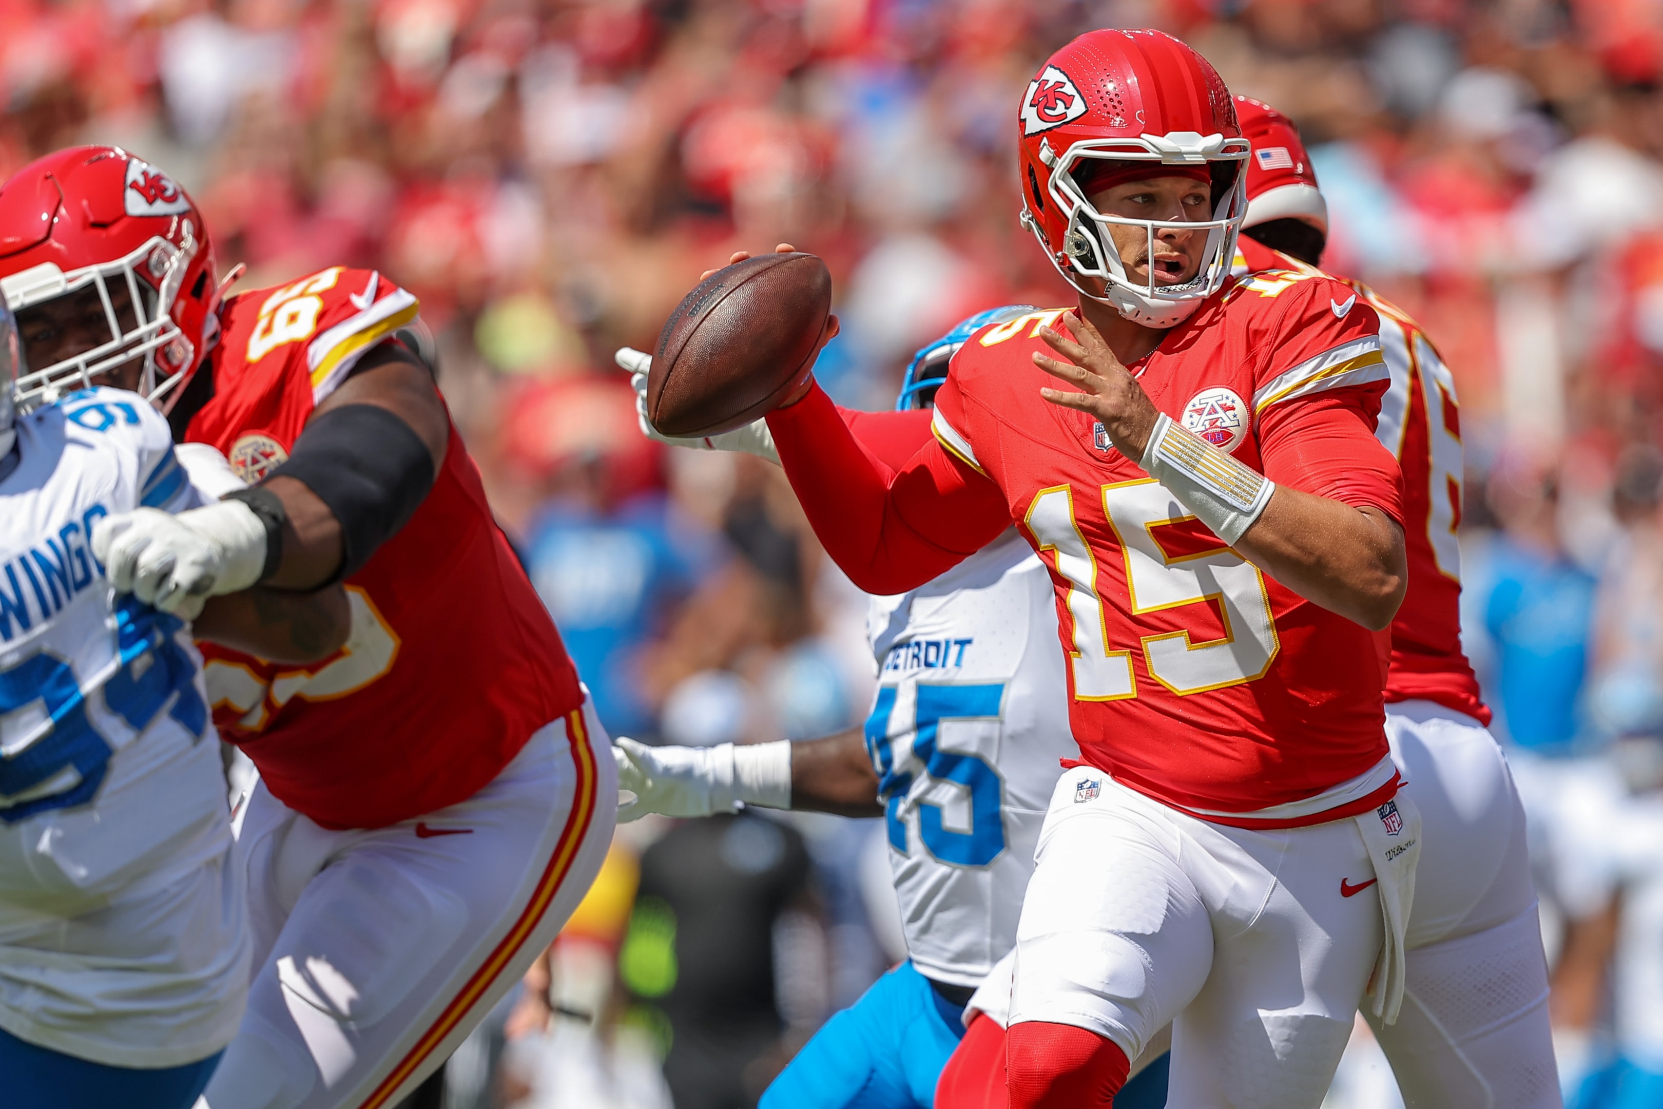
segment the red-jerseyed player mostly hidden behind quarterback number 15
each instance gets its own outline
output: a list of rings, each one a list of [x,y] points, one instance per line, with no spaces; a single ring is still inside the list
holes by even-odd
[[[1312,273],[1327,241],[1327,206],[1310,156],[1274,108],[1237,96],[1236,111],[1254,145],[1237,273]],[[1377,437],[1404,472],[1409,590],[1392,620],[1385,730],[1417,786],[1425,836],[1404,1013],[1392,1026],[1364,1014],[1410,1106],[1557,1109],[1525,813],[1483,727],[1490,710],[1460,647],[1455,381],[1409,314],[1360,281],[1340,281],[1379,313],[1392,376]],[[1462,986],[1452,989],[1452,981]]]

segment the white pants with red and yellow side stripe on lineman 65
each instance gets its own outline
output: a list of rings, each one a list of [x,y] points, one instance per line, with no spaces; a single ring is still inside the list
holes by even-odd
[[[329,831],[256,783],[236,820],[254,969],[196,1109],[384,1109],[456,1051],[582,900],[617,765],[585,702],[469,800]]]

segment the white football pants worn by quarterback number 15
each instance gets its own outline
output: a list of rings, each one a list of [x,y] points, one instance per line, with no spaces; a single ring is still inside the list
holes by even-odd
[[[1086,1028],[1128,1059],[1171,1023],[1172,1109],[1315,1109],[1380,954],[1374,878],[1352,818],[1227,828],[1071,770],[1023,903],[1011,1023]]]

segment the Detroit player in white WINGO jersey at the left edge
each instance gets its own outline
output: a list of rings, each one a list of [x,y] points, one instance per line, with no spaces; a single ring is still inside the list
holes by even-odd
[[[0,304],[0,1101],[183,1107],[248,983],[220,745],[190,625],[90,534],[200,494],[143,397],[17,414],[17,367]]]

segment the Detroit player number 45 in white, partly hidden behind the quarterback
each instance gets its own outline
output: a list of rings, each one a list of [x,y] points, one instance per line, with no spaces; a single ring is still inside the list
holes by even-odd
[[[928,407],[965,339],[1026,311],[971,316],[918,351],[898,407]],[[645,356],[619,362],[644,389]],[[659,437],[645,419],[642,431]],[[713,446],[772,456],[760,421]],[[873,597],[868,638],[878,692],[863,730],[710,750],[617,742],[620,788],[639,796],[624,820],[738,803],[885,815],[911,958],[827,1023],[763,1109],[935,1102],[965,1003],[1016,943],[1059,760],[1078,757],[1051,580],[1014,530],[928,585]]]

